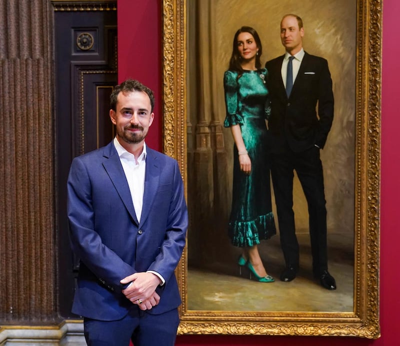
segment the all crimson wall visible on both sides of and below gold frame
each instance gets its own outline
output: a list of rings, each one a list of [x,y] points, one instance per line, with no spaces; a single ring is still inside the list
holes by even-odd
[[[398,64],[400,48],[397,21],[400,1],[383,1],[382,112],[381,112],[381,205],[380,205],[380,326],[377,340],[340,337],[270,336],[179,336],[178,346],[330,346],[400,345],[400,268],[395,254],[400,244],[400,114],[397,98],[400,88]],[[161,138],[161,1],[118,0],[118,79],[137,78],[155,91],[157,127],[152,125],[147,143],[160,150]],[[150,134],[149,134],[150,136]],[[399,285],[399,286],[397,286]]]

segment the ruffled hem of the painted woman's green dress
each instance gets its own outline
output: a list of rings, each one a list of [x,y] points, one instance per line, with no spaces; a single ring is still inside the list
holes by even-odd
[[[270,212],[251,221],[231,221],[228,234],[233,246],[244,248],[257,245],[276,234],[273,214]]]

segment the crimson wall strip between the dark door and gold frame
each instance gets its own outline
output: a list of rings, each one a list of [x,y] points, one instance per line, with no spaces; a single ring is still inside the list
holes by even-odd
[[[146,143],[162,151],[162,17],[158,0],[118,0],[118,81],[132,78],[154,92],[154,121]]]

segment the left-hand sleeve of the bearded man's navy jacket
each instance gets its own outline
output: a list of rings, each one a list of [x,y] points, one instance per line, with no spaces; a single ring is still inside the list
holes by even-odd
[[[135,270],[106,247],[94,229],[92,186],[87,167],[74,158],[67,181],[67,214],[72,251],[80,261],[111,290],[126,285],[119,281]]]

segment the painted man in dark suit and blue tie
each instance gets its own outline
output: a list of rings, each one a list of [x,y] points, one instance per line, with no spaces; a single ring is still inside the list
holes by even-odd
[[[303,35],[301,18],[284,15],[280,38],[286,52],[265,65],[271,102],[271,177],[285,260],[280,280],[293,280],[299,264],[292,209],[295,170],[308,205],[313,275],[322,287],[335,290],[327,270],[326,202],[319,158],[333,120],[332,80],[327,61],[303,50]]]

